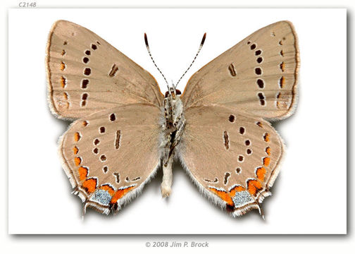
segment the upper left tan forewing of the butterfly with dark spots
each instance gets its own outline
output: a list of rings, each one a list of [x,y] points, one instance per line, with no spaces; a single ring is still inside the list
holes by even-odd
[[[80,118],[123,104],[161,106],[156,80],[94,32],[66,20],[54,23],[46,49],[51,109]]]

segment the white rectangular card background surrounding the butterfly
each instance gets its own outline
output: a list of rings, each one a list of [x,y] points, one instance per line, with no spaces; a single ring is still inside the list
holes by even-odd
[[[330,18],[332,17],[332,18]],[[291,20],[299,36],[299,105],[275,124],[287,155],[257,210],[233,219],[204,198],[184,171],[174,169],[173,193],[160,194],[161,174],[115,217],[90,211],[70,194],[57,140],[68,122],[46,103],[44,52],[58,19],[78,23],[163,79],[149,59],[147,32],[158,66],[175,82],[207,39],[189,76],[263,26]],[[13,9],[8,14],[8,231],[10,234],[345,234],[345,9]]]

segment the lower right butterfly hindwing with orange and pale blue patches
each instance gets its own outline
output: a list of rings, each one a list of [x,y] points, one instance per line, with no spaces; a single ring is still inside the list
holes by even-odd
[[[259,208],[282,157],[270,123],[217,105],[190,107],[185,118],[178,156],[200,191],[235,216]]]

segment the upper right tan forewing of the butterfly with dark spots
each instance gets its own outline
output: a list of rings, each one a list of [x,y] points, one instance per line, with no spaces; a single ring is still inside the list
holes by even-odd
[[[190,78],[185,108],[237,107],[263,119],[282,119],[295,107],[299,50],[294,28],[280,21],[254,32]]]

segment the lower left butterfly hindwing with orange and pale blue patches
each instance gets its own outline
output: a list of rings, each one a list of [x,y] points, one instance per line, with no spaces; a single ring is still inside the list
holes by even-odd
[[[75,121],[61,138],[63,168],[86,207],[108,214],[140,193],[160,164],[160,109],[130,104]]]

